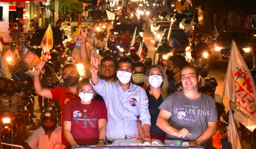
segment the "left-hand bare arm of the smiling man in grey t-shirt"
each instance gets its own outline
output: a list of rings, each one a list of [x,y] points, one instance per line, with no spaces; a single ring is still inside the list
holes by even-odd
[[[187,136],[190,136],[191,133],[189,133],[189,131],[185,128],[181,129],[181,130],[177,130],[174,127],[172,127],[170,125],[170,123],[168,122],[169,118],[172,116],[172,113],[165,111],[164,109],[160,110],[160,113],[157,117],[156,120],[156,125],[162,129],[164,132],[174,135],[176,137],[179,138],[185,138]]]

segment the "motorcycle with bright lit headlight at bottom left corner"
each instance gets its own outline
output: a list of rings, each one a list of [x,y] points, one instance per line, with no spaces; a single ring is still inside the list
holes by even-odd
[[[20,144],[24,138],[24,132],[22,130],[22,124],[17,119],[18,116],[29,117],[30,113],[27,110],[13,113],[11,110],[2,110],[0,112],[1,122],[1,140],[3,143],[8,144]],[[10,146],[3,146],[5,149],[10,149]]]

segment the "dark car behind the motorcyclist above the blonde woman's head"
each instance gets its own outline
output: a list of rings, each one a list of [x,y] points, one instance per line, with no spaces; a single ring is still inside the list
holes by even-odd
[[[155,47],[157,47],[158,45],[161,44],[161,40],[163,37],[167,38],[168,32],[169,32],[169,28],[164,29],[164,32],[161,35],[160,40],[155,42]],[[180,43],[180,46],[178,47],[178,53],[185,55],[186,49],[189,48],[188,47],[189,40],[188,40],[187,35],[184,32],[184,30],[180,29],[180,28],[172,28],[171,37],[176,38],[178,40],[178,42]]]

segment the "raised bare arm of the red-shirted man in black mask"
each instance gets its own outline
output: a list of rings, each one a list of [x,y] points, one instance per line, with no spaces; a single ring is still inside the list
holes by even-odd
[[[40,74],[44,65],[45,65],[45,61],[41,60],[40,64],[37,64],[36,67],[34,68],[34,90],[37,95],[48,98],[48,99],[52,99],[53,96],[50,89],[43,88],[40,83]]]

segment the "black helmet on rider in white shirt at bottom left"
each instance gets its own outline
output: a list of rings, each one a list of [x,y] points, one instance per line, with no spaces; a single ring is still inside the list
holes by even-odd
[[[58,124],[57,112],[53,108],[45,108],[41,113],[40,120],[41,120],[41,126],[45,131],[55,130]],[[46,126],[44,123],[46,120],[53,120],[54,121],[53,125]]]

